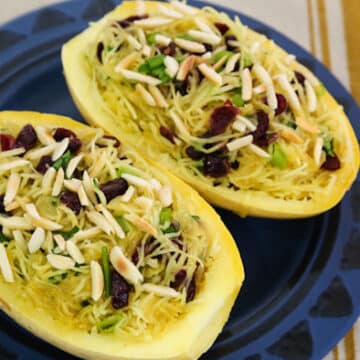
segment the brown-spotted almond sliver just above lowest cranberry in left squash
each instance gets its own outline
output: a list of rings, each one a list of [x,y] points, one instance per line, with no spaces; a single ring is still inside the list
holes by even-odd
[[[114,246],[110,252],[110,262],[114,269],[131,284],[144,281],[138,268],[124,255],[119,246]]]

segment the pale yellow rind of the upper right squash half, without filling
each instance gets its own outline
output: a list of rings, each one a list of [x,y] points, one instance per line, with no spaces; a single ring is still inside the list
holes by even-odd
[[[66,43],[62,50],[62,62],[65,78],[72,97],[85,119],[92,125],[100,126],[108,132],[117,135],[120,139],[133,147],[139,143],[137,135],[124,133],[121,127],[121,119],[114,119],[110,112],[103,108],[100,95],[94,89],[94,82],[88,76],[84,67],[83,54],[89,44],[94,41],[99,28],[108,19],[122,19],[135,13],[135,2],[125,2],[114,11],[106,15],[101,21],[93,24],[89,29],[74,37]],[[148,12],[155,11],[156,2],[146,2]],[[262,36],[252,32],[254,36]],[[324,101],[328,104],[329,112],[338,108],[337,102],[327,92],[323,95]],[[232,210],[242,216],[255,215],[273,218],[302,218],[322,213],[335,206],[350,188],[359,170],[359,145],[354,131],[345,113],[341,110],[336,112],[334,121],[347,133],[348,144],[345,153],[339,154],[340,158],[346,158],[347,162],[342,163],[340,170],[336,171],[337,180],[330,193],[316,195],[312,201],[296,201],[276,199],[261,191],[242,191],[236,193],[232,190],[213,187],[201,179],[192,176],[190,173],[181,174],[184,181],[197,189],[209,202],[220,207]],[[147,139],[149,148],[156,148],[153,139]],[[138,148],[146,156],[144,149]],[[174,174],[177,172],[175,161],[162,159],[162,165]]]

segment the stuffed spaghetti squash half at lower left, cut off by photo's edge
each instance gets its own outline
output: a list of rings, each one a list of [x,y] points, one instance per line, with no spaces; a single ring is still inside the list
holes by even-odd
[[[195,359],[244,278],[188,185],[68,118],[0,113],[0,307],[87,359]]]

